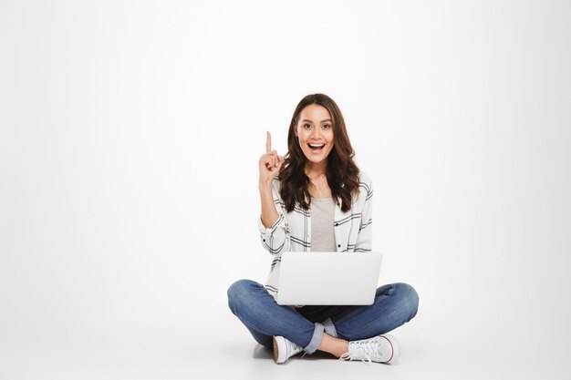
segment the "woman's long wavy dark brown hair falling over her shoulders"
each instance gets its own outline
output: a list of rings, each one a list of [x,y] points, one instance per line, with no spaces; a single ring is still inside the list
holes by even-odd
[[[332,98],[324,94],[311,94],[301,99],[289,124],[288,150],[277,176],[281,181],[280,195],[285,203],[285,211],[293,211],[296,204],[303,210],[308,210],[311,203],[310,180],[305,170],[307,159],[295,134],[299,114],[310,104],[326,108],[331,115],[334,146],[327,156],[327,184],[333,199],[336,203],[338,203],[337,198],[340,199],[341,210],[347,212],[351,210],[352,195],[358,194],[358,167],[353,161],[355,151],[351,147],[341,110]]]

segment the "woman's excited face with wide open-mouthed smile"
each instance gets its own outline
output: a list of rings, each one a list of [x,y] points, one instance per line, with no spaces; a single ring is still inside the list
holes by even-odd
[[[333,149],[333,122],[327,108],[310,104],[299,113],[296,136],[306,158],[313,163],[327,159]]]

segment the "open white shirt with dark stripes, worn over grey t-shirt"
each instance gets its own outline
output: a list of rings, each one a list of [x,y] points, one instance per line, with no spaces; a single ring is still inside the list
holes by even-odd
[[[280,194],[280,181],[272,182],[275,210],[278,219],[266,228],[262,217],[258,219],[260,240],[267,252],[274,256],[265,289],[275,296],[278,292],[279,268],[282,252],[311,252],[311,210],[296,205],[293,211],[285,211]],[[358,196],[351,200],[351,210],[341,211],[335,205],[333,228],[337,252],[370,252],[372,248],[373,184],[362,171],[359,173]],[[340,200],[339,200],[340,203]]]

